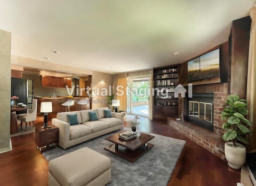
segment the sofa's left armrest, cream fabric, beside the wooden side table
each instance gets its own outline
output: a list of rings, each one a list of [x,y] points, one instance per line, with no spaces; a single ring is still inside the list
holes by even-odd
[[[70,124],[59,120],[57,118],[52,119],[52,125],[59,128],[59,146],[66,149],[68,142],[70,141]]]

